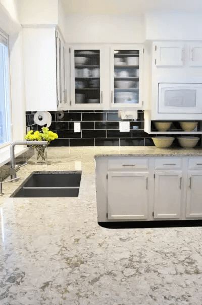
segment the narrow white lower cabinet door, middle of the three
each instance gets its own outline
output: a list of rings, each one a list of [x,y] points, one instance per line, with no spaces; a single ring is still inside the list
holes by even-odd
[[[154,218],[179,218],[182,172],[155,173]]]

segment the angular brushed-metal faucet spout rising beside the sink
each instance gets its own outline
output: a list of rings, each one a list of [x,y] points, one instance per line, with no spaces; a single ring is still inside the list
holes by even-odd
[[[11,154],[11,179],[16,178],[16,170],[15,170],[15,146],[16,145],[40,145],[40,146],[47,146],[48,141],[16,141],[11,143],[10,146],[10,154]]]

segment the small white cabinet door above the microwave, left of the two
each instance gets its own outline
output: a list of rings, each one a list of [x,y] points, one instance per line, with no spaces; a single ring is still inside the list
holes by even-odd
[[[156,66],[183,66],[184,47],[179,43],[157,43],[154,45]]]

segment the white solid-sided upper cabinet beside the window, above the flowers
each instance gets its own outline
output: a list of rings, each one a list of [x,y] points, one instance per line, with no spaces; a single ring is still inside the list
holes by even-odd
[[[23,28],[27,111],[64,109],[66,100],[64,48],[64,41],[55,27]]]

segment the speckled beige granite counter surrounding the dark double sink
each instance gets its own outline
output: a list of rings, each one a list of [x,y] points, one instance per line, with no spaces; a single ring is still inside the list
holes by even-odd
[[[30,159],[17,172],[21,181],[3,184],[1,304],[202,303],[200,227],[109,230],[97,225],[94,155],[138,149],[147,148],[49,147],[48,164]],[[79,197],[9,198],[35,170],[82,170]]]

